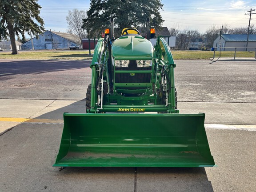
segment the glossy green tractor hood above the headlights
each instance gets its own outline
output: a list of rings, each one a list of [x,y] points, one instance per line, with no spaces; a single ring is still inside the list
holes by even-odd
[[[112,44],[115,60],[152,60],[153,46],[141,36],[123,36]]]

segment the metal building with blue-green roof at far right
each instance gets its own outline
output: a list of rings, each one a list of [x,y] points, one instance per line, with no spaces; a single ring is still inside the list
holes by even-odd
[[[213,47],[216,47],[217,51],[234,51],[235,47],[237,47],[236,51],[246,51],[246,42],[247,35],[246,34],[223,34],[217,37],[217,39],[213,42]],[[256,48],[256,34],[249,34],[248,39],[248,48],[247,51],[255,51]]]

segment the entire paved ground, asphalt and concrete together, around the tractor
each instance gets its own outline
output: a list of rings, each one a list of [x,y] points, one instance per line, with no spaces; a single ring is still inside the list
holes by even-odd
[[[0,60],[0,192],[256,191],[256,61],[176,61],[178,108],[206,113],[218,168],[52,167],[63,112],[85,111],[89,64]]]

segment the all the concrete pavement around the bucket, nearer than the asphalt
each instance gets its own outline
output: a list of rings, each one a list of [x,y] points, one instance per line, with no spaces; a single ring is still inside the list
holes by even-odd
[[[256,188],[255,104],[222,103],[220,112],[216,110],[220,103],[179,103],[182,113],[206,113],[208,141],[218,168],[59,171],[52,164],[59,150],[63,112],[84,112],[85,101],[2,99],[0,102],[3,104],[0,106],[1,192],[240,192]],[[247,108],[247,112],[237,113],[239,108]],[[225,122],[236,125],[220,125]]]

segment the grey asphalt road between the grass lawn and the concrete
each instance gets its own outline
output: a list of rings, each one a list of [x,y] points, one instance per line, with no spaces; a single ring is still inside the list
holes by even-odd
[[[90,61],[1,60],[0,98],[83,100]],[[256,103],[256,61],[176,60],[178,101]]]

